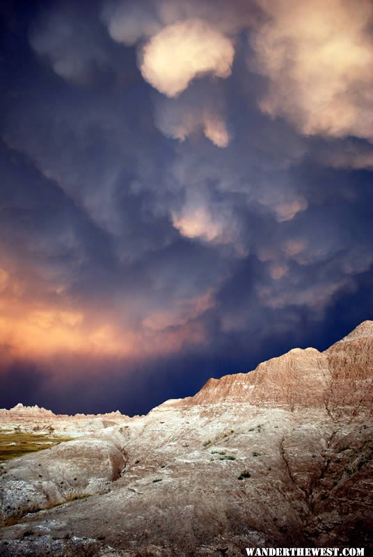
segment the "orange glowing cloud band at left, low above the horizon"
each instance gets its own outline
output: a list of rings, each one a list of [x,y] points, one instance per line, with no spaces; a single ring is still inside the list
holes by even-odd
[[[31,274],[28,281],[21,281],[14,272],[0,269],[3,358],[136,359],[177,352],[185,343],[205,341],[203,327],[193,320],[214,304],[212,292],[207,292],[175,301],[169,309],[144,308],[143,322],[135,326],[130,318],[126,321],[121,311],[109,306],[102,311],[94,304],[72,304],[64,288],[44,287],[43,297],[42,292],[35,293]]]

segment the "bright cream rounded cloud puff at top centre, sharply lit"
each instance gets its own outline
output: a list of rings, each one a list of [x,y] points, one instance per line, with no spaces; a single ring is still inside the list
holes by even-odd
[[[164,27],[143,47],[141,73],[168,97],[186,89],[195,77],[229,77],[235,48],[230,38],[201,19]]]

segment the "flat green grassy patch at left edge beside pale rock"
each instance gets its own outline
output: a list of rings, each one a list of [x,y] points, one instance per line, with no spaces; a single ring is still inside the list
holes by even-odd
[[[0,432],[0,462],[11,458],[22,457],[37,450],[70,441],[71,437],[51,437],[34,433],[3,433]]]

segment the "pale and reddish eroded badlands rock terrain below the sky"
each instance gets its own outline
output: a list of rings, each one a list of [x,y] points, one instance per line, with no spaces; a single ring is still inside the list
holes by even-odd
[[[76,438],[0,466],[0,555],[373,547],[372,381],[367,321],[147,416],[0,411],[0,431]]]

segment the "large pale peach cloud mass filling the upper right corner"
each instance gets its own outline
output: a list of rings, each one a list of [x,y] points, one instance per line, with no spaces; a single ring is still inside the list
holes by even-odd
[[[370,0],[257,0],[267,17],[251,32],[260,108],[303,134],[373,141]]]

